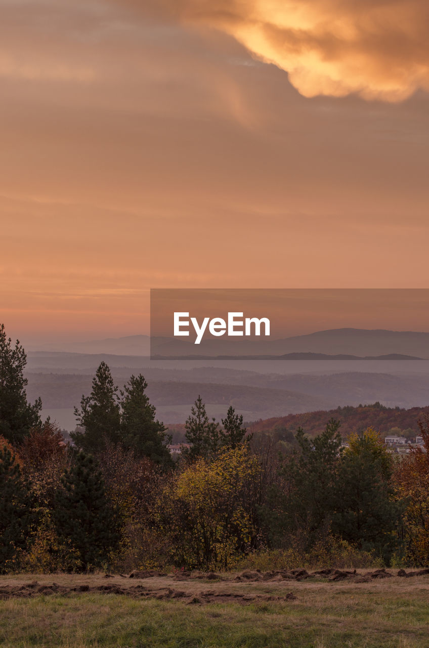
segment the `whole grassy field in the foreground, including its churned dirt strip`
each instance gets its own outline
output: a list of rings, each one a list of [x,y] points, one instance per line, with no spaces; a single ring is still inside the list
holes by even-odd
[[[26,588],[33,579],[38,588]],[[90,589],[36,592],[53,582]],[[122,593],[92,590],[106,583]],[[0,577],[0,590],[8,587],[22,597],[0,594],[1,648],[429,647],[428,575],[369,583]]]

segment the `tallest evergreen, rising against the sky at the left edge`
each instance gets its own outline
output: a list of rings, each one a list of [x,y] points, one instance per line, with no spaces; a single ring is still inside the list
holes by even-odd
[[[27,402],[23,371],[27,355],[16,340],[6,338],[5,325],[0,324],[0,435],[11,443],[20,443],[30,428],[40,421],[41,400]]]

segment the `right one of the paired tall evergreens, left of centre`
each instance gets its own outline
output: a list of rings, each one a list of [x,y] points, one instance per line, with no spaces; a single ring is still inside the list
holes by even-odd
[[[146,395],[147,386],[140,374],[137,378],[131,376],[121,391],[122,443],[141,457],[168,464],[171,457],[166,443],[170,439],[165,434],[167,428],[155,419],[156,409]]]

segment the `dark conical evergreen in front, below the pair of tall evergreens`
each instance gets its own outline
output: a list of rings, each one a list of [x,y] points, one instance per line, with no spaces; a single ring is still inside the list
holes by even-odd
[[[119,518],[106,497],[102,474],[91,455],[80,452],[65,470],[54,509],[58,537],[78,557],[80,570],[109,561],[119,542]]]

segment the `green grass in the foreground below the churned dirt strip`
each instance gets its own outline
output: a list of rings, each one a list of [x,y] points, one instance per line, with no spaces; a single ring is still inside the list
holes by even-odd
[[[186,605],[112,594],[0,601],[1,648],[428,648],[428,590],[327,586],[293,602]]]

